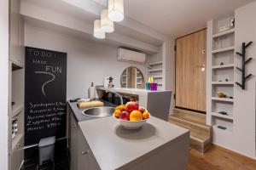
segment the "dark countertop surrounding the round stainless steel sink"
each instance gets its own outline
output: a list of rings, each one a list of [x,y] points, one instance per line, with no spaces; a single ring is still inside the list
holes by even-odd
[[[101,100],[101,101],[104,103],[104,106],[116,107],[116,105],[108,103],[107,101],[103,101],[103,100]],[[84,116],[82,114],[82,111],[84,111],[85,109],[79,109],[77,102],[68,101],[67,104],[70,106],[71,110],[73,111],[73,115],[77,119],[77,122],[88,121],[88,120],[98,118],[98,117],[93,117],[93,116]]]

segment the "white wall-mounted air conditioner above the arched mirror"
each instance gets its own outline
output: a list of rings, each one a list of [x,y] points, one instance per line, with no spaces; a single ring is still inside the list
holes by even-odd
[[[125,48],[118,48],[118,60],[143,64],[146,60],[146,54]]]

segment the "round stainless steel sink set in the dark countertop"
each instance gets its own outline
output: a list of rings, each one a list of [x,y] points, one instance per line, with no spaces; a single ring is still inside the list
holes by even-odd
[[[90,109],[86,109],[82,112],[85,116],[96,116],[96,117],[104,117],[104,116],[112,116],[114,111],[113,107],[93,107]]]

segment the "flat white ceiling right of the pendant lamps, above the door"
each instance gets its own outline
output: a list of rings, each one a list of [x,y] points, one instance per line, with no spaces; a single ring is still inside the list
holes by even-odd
[[[125,13],[171,37],[207,26],[207,20],[230,14],[255,0],[125,0]]]

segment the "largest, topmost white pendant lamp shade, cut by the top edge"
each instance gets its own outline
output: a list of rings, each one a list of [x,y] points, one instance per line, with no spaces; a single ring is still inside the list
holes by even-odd
[[[114,22],[124,20],[124,0],[108,0],[108,18]]]

